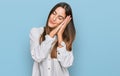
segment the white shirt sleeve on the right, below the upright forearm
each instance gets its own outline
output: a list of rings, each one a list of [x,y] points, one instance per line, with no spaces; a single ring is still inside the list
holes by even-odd
[[[68,68],[72,65],[74,60],[73,51],[66,49],[65,42],[61,42],[61,45],[63,47],[57,47],[57,59],[63,67]]]

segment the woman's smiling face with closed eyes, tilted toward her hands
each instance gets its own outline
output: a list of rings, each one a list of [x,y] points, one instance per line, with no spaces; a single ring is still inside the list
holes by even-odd
[[[66,17],[65,9],[58,7],[53,11],[48,19],[48,26],[51,28],[57,27],[64,21]]]

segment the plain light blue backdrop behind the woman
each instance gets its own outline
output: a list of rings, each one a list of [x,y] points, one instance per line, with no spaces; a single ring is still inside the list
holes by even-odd
[[[70,76],[120,76],[119,0],[0,0],[0,76],[31,76],[30,29],[43,27],[61,1],[76,28]]]

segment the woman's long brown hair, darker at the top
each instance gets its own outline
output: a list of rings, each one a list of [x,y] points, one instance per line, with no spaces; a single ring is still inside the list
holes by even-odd
[[[63,41],[66,43],[66,49],[68,51],[72,50],[72,43],[75,39],[75,27],[74,27],[74,22],[73,22],[73,15],[72,15],[72,9],[70,7],[69,4],[65,3],[65,2],[60,2],[58,4],[56,4],[50,11],[48,18],[47,18],[47,22],[46,22],[46,26],[44,27],[44,32],[41,35],[39,42],[41,43],[42,41],[45,40],[45,35],[49,34],[51,32],[51,28],[48,26],[48,20],[50,15],[55,11],[56,8],[58,7],[62,7],[65,9],[65,14],[66,16],[70,15],[71,16],[71,21],[68,23],[68,25],[66,26],[64,32],[63,32]],[[57,47],[58,47],[58,42],[55,43],[55,45],[52,48],[52,52],[51,52],[51,58],[57,58]]]

